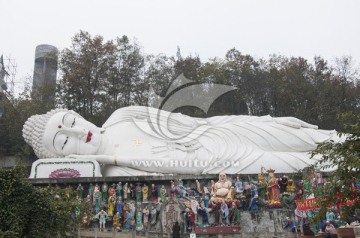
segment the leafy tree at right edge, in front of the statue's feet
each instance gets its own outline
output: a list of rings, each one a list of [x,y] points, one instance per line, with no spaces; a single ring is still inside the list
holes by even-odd
[[[344,123],[342,132],[344,141],[321,143],[312,156],[321,155],[316,164],[320,169],[334,169],[330,173],[323,189],[316,193],[321,206],[319,216],[324,216],[326,208],[331,205],[341,206],[342,219],[360,208],[360,114],[345,113],[339,116]]]

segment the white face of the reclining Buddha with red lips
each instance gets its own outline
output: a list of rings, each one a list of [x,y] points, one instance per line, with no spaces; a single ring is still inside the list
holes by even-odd
[[[58,112],[47,122],[44,144],[59,155],[96,154],[101,144],[100,128],[71,112]]]

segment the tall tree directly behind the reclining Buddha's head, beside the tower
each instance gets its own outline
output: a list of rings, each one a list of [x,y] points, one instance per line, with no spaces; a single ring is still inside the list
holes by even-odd
[[[107,96],[107,80],[113,78],[116,45],[81,31],[72,46],[60,54],[60,104],[72,109],[95,124],[101,124],[100,113]]]

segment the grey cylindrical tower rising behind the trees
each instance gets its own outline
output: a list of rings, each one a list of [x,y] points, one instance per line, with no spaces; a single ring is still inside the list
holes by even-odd
[[[53,99],[55,96],[58,49],[52,45],[38,45],[35,50],[33,96]]]

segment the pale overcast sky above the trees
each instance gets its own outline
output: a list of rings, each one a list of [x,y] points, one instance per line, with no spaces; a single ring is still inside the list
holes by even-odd
[[[148,54],[224,58],[316,55],[360,62],[358,0],[0,0],[0,54],[17,63],[16,83],[33,74],[35,47],[62,50],[80,30],[105,40],[127,35]],[[311,61],[312,62],[312,61]]]

